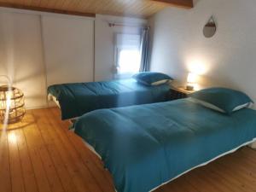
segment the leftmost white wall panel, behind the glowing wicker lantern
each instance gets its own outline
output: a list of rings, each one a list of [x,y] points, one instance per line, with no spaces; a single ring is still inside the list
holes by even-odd
[[[26,108],[46,106],[40,17],[0,12],[0,75],[26,96]],[[1,79],[0,84],[6,84]]]

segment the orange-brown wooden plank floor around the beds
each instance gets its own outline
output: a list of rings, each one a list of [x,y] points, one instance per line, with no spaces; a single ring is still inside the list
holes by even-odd
[[[57,108],[31,110],[0,136],[1,192],[113,192],[102,162]],[[241,148],[155,192],[256,192],[256,151]],[[137,191],[140,192],[140,191]]]

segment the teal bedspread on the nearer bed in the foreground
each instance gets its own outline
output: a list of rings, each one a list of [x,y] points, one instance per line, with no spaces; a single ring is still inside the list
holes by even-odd
[[[118,192],[148,192],[256,137],[256,111],[227,115],[189,99],[83,115],[75,133],[95,148]]]

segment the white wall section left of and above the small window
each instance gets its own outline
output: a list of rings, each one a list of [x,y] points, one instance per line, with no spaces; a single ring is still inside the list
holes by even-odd
[[[125,24],[127,26],[109,27],[108,22]],[[95,21],[95,80],[109,80],[114,76],[114,35],[116,33],[139,34],[140,27],[147,20],[117,17],[110,15],[96,15]]]

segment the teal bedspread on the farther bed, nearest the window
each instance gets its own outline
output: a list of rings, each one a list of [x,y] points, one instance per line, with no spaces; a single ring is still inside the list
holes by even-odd
[[[134,79],[55,84],[48,93],[55,96],[61,106],[61,118],[71,119],[99,108],[117,108],[152,102],[165,102],[167,84],[147,86]]]

